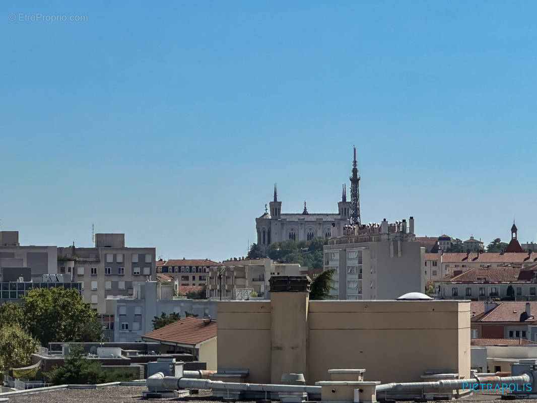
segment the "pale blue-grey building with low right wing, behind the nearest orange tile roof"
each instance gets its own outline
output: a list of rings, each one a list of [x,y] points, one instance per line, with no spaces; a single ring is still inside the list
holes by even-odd
[[[114,315],[113,329],[107,332],[110,341],[129,343],[142,341],[142,336],[153,330],[151,320],[162,312],[179,313],[185,318],[186,312],[202,318],[210,315],[216,318],[216,302],[173,297],[172,285],[157,285],[156,282],[139,282],[133,285],[131,297],[106,297],[106,313]]]

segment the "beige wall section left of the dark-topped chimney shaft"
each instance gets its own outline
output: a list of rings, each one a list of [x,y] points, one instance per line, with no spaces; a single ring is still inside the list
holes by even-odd
[[[219,368],[248,368],[248,382],[269,383],[271,377],[270,301],[219,301]]]

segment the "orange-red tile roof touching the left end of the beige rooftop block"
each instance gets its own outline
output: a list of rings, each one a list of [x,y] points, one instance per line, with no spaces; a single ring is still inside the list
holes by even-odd
[[[187,318],[144,334],[142,339],[195,346],[213,337],[216,337],[216,320],[187,316]]]

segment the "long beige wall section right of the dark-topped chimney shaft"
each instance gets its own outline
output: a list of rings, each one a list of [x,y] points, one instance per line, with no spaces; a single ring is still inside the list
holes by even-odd
[[[455,301],[310,301],[308,383],[326,380],[333,368],[365,368],[365,380],[383,383],[417,382],[435,369],[468,377],[469,308]]]

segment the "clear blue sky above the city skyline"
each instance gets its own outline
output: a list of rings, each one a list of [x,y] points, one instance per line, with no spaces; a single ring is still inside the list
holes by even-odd
[[[164,258],[241,256],[274,182],[282,212],[336,212],[355,145],[362,221],[488,243],[514,217],[536,240],[535,16],[533,1],[2,2],[0,228],[82,247],[95,224]]]

